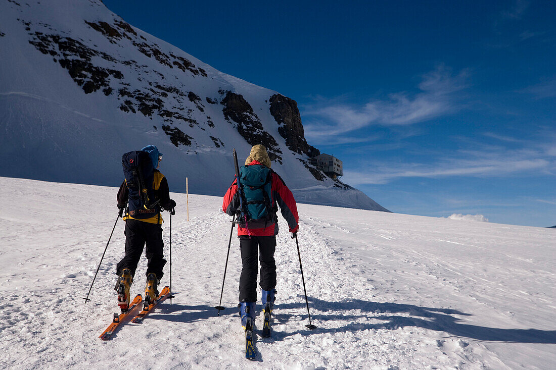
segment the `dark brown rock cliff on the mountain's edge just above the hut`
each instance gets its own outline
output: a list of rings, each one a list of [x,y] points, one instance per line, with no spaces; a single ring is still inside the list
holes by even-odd
[[[305,140],[301,114],[294,99],[274,94],[270,97],[270,114],[279,124],[278,132],[286,139],[286,146],[292,152],[307,154],[311,158],[320,154],[319,149],[310,146]]]

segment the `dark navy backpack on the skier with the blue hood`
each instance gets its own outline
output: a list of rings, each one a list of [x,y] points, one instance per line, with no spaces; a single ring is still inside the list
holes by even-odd
[[[133,218],[149,218],[158,213],[158,202],[152,184],[155,167],[147,152],[132,151],[122,156],[123,176],[129,191],[128,212]]]

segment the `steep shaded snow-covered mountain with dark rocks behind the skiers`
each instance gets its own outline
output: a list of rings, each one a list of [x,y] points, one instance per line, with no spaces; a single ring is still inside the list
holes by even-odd
[[[115,186],[121,155],[165,154],[173,191],[222,194],[264,144],[301,202],[388,211],[309,163],[294,100],[217,71],[100,0],[0,3],[0,174]]]

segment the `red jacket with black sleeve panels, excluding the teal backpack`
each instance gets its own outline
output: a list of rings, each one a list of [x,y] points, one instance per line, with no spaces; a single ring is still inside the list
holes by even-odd
[[[249,166],[261,163],[252,161]],[[297,232],[299,229],[299,216],[297,215],[297,204],[295,203],[294,195],[290,189],[287,188],[284,180],[274,171],[272,171],[272,192],[271,204],[278,203],[282,216],[286,219],[290,232]],[[237,181],[234,179],[232,186],[228,189],[222,202],[222,211],[230,216],[236,214],[237,209],[240,207],[240,197],[237,193]],[[273,220],[277,220],[273,217]],[[249,228],[249,230],[247,229]],[[250,228],[247,223],[247,228],[237,226],[238,235],[256,235],[256,236],[274,236],[278,234],[278,223],[269,221],[266,227]]]

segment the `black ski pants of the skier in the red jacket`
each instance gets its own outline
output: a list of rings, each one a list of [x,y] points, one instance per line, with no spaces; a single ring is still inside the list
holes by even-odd
[[[275,236],[240,236],[240,302],[257,302],[257,254],[260,252],[261,282],[265,291],[276,287]]]

